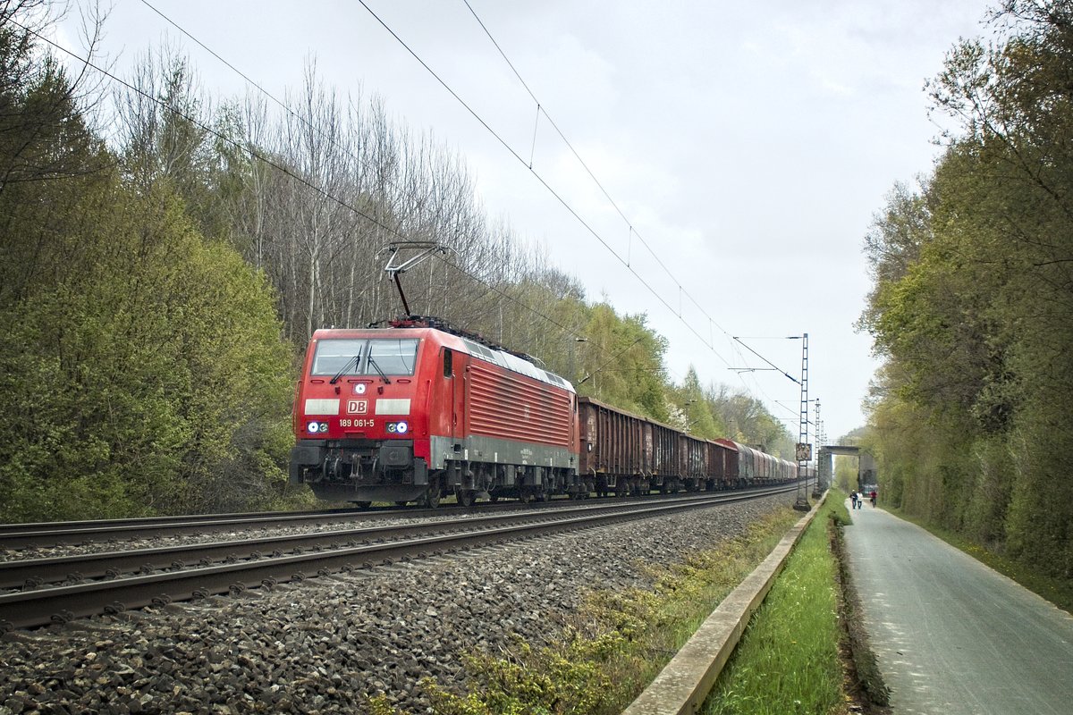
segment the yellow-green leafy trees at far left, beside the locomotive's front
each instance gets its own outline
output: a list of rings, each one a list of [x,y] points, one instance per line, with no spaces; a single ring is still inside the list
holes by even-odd
[[[0,519],[271,503],[292,375],[271,291],[170,187],[120,176],[64,74],[0,33],[25,70],[5,136],[35,128],[0,147]]]

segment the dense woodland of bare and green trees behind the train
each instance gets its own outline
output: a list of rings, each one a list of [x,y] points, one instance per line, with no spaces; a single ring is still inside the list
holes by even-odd
[[[325,87],[212,98],[181,51],[111,78],[49,44],[62,5],[0,0],[0,520],[302,504],[291,400],[310,333],[402,312],[393,240],[450,248],[414,312],[611,404],[792,455],[755,399],[674,381],[646,315],[488,217],[461,157]],[[107,68],[87,23],[84,57]],[[584,339],[579,340],[579,339]]]

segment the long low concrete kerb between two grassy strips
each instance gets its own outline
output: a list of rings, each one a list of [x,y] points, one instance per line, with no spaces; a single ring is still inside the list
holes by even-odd
[[[692,715],[701,709],[753,611],[764,602],[787,557],[825,498],[826,493],[782,537],[767,558],[719,604],[622,715]]]

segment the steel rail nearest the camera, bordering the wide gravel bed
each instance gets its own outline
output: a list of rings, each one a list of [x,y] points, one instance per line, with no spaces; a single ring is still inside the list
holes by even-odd
[[[793,487],[791,486],[792,490]],[[300,581],[315,574],[327,576],[336,570],[371,567],[373,561],[391,564],[397,560],[442,554],[450,549],[468,549],[481,543],[502,543],[555,532],[603,526],[620,521],[644,519],[674,511],[718,506],[759,498],[785,488],[749,494],[721,494],[673,503],[629,505],[603,515],[572,516],[559,520],[540,520],[525,524],[494,526],[487,530],[447,535],[424,536],[385,543],[343,547],[282,555],[259,561],[220,564],[109,581],[94,581],[67,586],[39,589],[0,595],[0,631],[32,628],[53,622],[65,623],[76,617],[163,606],[175,600],[207,597],[214,594],[240,593],[248,587],[271,586],[279,582]]]

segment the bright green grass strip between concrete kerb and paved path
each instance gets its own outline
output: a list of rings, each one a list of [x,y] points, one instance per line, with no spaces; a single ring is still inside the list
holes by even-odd
[[[832,516],[849,521],[832,492],[756,610],[702,712],[790,715],[846,711],[839,657],[837,562]]]

